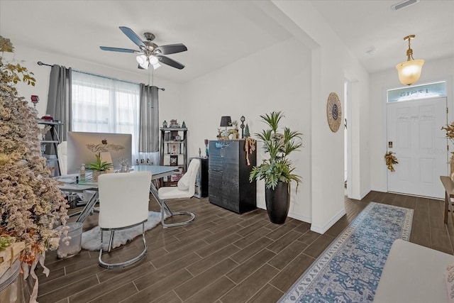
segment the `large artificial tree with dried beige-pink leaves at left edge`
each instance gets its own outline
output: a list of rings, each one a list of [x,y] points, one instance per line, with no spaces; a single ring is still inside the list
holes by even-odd
[[[4,62],[4,52],[12,53],[13,45],[0,36],[0,235],[25,243],[19,260],[25,274],[31,270],[35,277],[45,251],[58,246],[54,224],[63,225],[64,240],[69,241],[67,203],[41,155],[36,111],[14,87],[21,81],[34,86],[33,73]],[[38,292],[37,281],[31,300]]]

